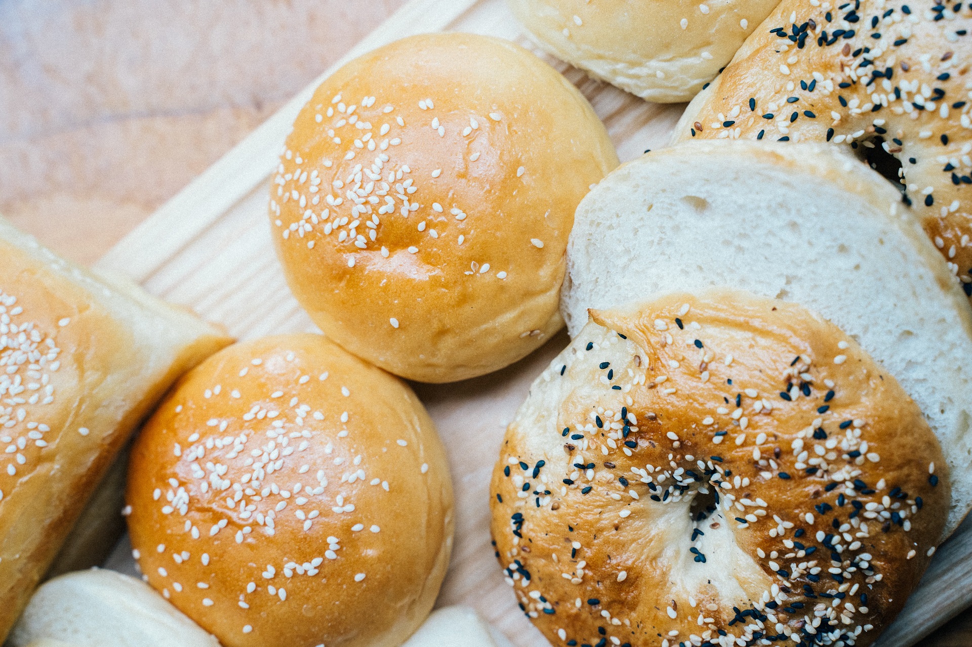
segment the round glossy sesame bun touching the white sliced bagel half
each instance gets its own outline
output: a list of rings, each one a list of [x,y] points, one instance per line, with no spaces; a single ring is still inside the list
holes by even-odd
[[[529,51],[415,36],[351,61],[301,111],[273,238],[331,339],[409,379],[461,380],[563,325],[573,210],[617,163],[584,97]]]

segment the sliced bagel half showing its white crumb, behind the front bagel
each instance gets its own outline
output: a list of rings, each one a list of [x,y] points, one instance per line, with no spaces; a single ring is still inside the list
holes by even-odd
[[[972,505],[972,312],[945,261],[865,165],[832,148],[689,142],[625,164],[577,208],[562,310],[727,287],[799,303],[849,333],[920,406]]]

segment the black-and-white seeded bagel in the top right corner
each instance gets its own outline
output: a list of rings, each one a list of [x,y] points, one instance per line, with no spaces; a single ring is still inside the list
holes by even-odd
[[[677,138],[830,142],[861,155],[883,147],[901,163],[905,201],[972,296],[972,8],[841,7],[783,0],[693,100]]]

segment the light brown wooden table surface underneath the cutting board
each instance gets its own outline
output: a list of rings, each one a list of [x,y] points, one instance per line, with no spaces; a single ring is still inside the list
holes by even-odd
[[[0,213],[93,261],[402,2],[0,0]]]

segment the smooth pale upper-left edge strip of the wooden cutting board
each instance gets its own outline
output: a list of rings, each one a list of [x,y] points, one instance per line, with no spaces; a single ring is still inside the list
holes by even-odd
[[[283,108],[264,121],[146,221],[121,239],[94,267],[142,283],[236,202],[264,182],[300,109],[314,90],[347,61],[413,34],[442,31],[478,0],[410,0],[344,54]],[[186,214],[191,213],[191,218]]]

